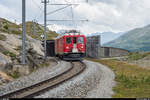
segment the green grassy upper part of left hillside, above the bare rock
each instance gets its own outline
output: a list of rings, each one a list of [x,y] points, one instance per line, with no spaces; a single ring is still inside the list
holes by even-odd
[[[17,25],[6,19],[0,18],[0,31],[9,34],[21,35],[22,24]],[[43,26],[36,23],[36,33],[33,34],[33,23],[31,21],[26,22],[26,33],[34,39],[40,39],[40,35],[44,33]],[[54,39],[58,34],[54,31],[47,29],[47,39]]]

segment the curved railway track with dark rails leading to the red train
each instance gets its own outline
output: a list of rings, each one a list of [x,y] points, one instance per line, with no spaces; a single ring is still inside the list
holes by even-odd
[[[80,74],[86,68],[86,65],[83,62],[71,62],[71,68],[67,71],[52,77],[48,80],[42,81],[40,83],[34,84],[29,87],[25,87],[4,95],[1,95],[0,98],[31,98],[36,95],[39,95],[49,89],[56,87],[57,85],[71,79],[74,76]]]

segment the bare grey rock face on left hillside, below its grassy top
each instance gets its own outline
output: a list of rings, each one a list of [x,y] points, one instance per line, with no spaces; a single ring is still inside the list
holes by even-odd
[[[26,36],[26,65],[21,65],[21,36],[0,33],[6,36],[6,40],[0,40],[0,70],[13,75],[27,75],[40,67],[43,63],[43,47],[41,41]]]

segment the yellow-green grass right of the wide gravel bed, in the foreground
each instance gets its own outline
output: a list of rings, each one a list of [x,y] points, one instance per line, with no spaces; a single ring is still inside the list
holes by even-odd
[[[114,98],[149,98],[150,70],[116,60],[89,59],[111,68],[117,85],[113,88]]]

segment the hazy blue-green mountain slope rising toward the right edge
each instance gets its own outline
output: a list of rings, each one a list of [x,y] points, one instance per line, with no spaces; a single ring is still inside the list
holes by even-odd
[[[150,51],[150,25],[131,30],[104,46],[123,48],[129,51]]]

